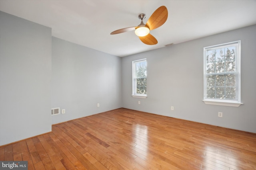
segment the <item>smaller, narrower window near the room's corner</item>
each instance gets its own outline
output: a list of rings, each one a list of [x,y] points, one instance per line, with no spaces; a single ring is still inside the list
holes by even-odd
[[[147,60],[132,62],[132,97],[147,97]]]

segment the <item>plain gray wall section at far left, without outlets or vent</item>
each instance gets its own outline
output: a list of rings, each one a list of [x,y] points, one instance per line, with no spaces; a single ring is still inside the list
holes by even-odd
[[[51,131],[51,38],[0,12],[0,145]]]

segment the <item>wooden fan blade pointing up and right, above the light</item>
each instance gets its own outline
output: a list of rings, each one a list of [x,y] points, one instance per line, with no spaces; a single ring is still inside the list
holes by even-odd
[[[150,30],[156,29],[163,25],[168,17],[168,10],[165,6],[160,6],[155,10],[155,12],[150,16],[146,25]]]

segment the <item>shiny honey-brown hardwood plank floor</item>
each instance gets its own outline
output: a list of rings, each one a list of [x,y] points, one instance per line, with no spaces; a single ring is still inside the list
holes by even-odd
[[[0,147],[29,170],[256,170],[256,134],[130,109],[52,126]]]

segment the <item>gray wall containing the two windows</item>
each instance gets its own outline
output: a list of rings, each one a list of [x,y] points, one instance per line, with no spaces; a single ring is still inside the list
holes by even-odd
[[[241,40],[239,107],[206,105],[203,48]],[[122,58],[122,106],[256,133],[256,25]],[[132,98],[132,61],[147,59],[148,98]],[[138,105],[140,101],[140,105]],[[174,111],[170,107],[174,106]],[[223,117],[218,117],[218,112]]]

